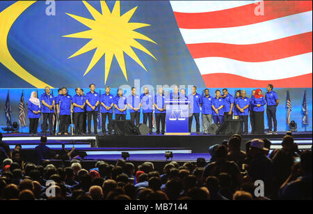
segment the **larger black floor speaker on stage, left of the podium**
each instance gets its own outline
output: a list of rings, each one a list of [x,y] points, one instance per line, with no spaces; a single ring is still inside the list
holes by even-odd
[[[138,128],[129,120],[113,121],[115,135],[140,135]]]

